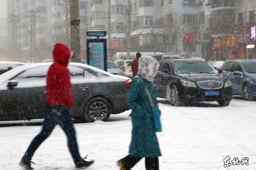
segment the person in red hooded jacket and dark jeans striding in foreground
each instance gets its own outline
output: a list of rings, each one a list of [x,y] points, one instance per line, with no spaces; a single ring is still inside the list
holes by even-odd
[[[44,122],[42,131],[33,139],[19,165],[25,169],[31,167],[31,159],[39,145],[51,134],[56,124],[64,130],[68,139],[68,149],[76,168],[85,168],[94,162],[80,157],[76,131],[73,125],[71,107],[74,105],[70,72],[67,68],[71,51],[64,44],[57,43],[53,49],[54,63],[46,77],[47,100],[44,105]],[[33,162],[32,162],[33,163]]]

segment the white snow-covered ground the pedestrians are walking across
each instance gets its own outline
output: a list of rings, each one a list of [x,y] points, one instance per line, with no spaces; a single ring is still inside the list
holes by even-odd
[[[172,107],[160,100],[163,132],[158,132],[162,151],[160,170],[252,170],[256,169],[256,101],[233,99],[228,107],[217,102],[193,107]],[[128,154],[131,120],[126,111],[111,115],[109,122],[75,124],[81,156],[89,154],[93,170],[117,170],[116,161]],[[0,169],[21,170],[18,163],[41,126],[0,128]],[[249,165],[224,167],[223,159],[249,158]],[[32,159],[40,170],[71,170],[66,136],[56,126]],[[143,170],[142,159],[133,170]]]

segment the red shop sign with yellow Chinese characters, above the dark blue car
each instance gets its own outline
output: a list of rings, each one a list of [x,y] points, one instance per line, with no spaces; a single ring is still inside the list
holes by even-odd
[[[236,36],[213,38],[213,48],[236,47]]]

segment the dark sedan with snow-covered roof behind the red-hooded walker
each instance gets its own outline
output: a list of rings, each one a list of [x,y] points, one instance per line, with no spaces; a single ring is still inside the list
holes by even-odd
[[[43,118],[46,74],[52,63],[27,64],[0,75],[0,120]],[[89,65],[69,63],[75,104],[73,117],[85,122],[107,121],[110,114],[129,110],[130,78]]]

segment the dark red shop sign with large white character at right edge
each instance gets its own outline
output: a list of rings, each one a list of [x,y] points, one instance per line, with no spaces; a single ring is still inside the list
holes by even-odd
[[[256,26],[241,26],[237,28],[237,43],[255,43]]]

